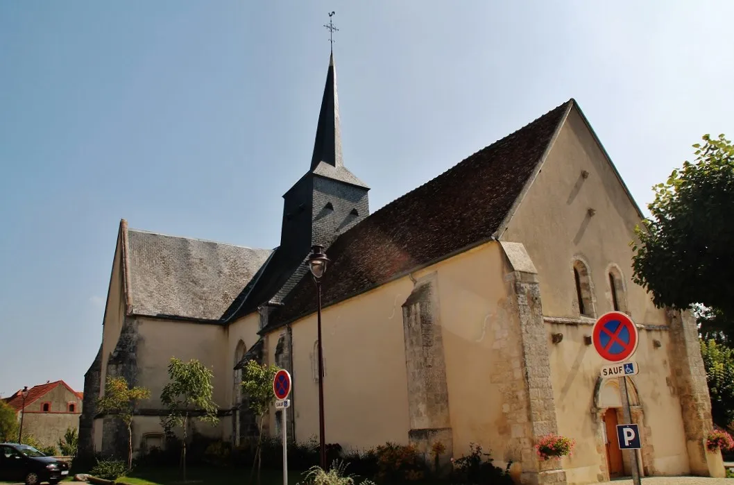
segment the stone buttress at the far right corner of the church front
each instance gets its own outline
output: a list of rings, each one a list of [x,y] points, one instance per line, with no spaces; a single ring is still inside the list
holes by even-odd
[[[711,398],[701,358],[696,320],[689,312],[669,311],[670,362],[673,382],[683,411],[688,462],[694,475],[709,476],[704,440],[712,430]]]

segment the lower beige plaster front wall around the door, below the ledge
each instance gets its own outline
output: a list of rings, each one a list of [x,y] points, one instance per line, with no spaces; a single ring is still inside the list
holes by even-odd
[[[562,460],[568,483],[606,481],[608,466],[602,441],[602,415],[607,407],[619,408],[621,399],[600,402],[595,391],[600,368],[609,362],[603,361],[593,346],[584,342],[584,337],[591,335],[591,325],[547,325],[559,432],[578,443],[573,457]],[[563,340],[552,343],[553,334],[563,335]],[[666,330],[639,330],[640,342],[633,358],[641,369],[631,381],[642,405],[639,424],[645,440],[643,465],[645,473],[652,475],[689,472],[680,399],[673,384],[668,354],[672,345],[669,337]],[[656,347],[654,340],[661,346]],[[623,423],[619,420],[619,424]],[[616,436],[609,440],[617,444]],[[628,468],[626,472],[630,473]]]

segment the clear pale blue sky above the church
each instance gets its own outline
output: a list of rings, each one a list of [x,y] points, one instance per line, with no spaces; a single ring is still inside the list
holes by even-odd
[[[553,6],[551,6],[553,4]],[[375,209],[576,98],[639,205],[734,136],[734,2],[0,2],[0,392],[82,389],[117,225],[275,247],[335,10]]]

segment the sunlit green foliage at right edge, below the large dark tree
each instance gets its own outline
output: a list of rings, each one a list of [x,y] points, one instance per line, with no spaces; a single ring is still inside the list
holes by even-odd
[[[714,340],[701,341],[713,422],[726,428],[734,423],[734,350]]]

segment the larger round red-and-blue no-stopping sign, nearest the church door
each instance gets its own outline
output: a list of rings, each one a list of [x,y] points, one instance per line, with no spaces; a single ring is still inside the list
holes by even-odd
[[[609,312],[597,320],[592,340],[603,359],[621,362],[635,353],[639,335],[636,325],[625,313]]]

